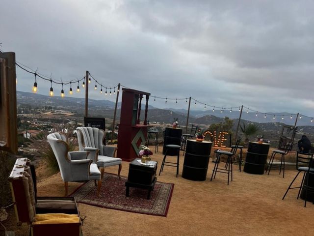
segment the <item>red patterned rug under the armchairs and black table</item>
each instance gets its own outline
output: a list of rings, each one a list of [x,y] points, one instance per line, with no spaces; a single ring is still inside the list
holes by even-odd
[[[97,187],[94,181],[81,185],[70,196],[75,197],[79,203],[97,207],[167,216],[173,183],[156,182],[150,200],[147,200],[146,189],[130,187],[130,197],[126,197],[125,181],[127,177],[119,179],[117,175],[105,173],[99,198],[96,196]]]

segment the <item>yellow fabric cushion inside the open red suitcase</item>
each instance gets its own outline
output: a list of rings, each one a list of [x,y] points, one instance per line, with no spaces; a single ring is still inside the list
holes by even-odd
[[[78,214],[48,213],[36,214],[33,224],[79,223]]]

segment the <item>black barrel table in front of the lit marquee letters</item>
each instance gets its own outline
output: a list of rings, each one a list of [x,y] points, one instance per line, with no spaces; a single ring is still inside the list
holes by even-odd
[[[184,155],[182,177],[195,181],[206,180],[212,142],[188,139]]]

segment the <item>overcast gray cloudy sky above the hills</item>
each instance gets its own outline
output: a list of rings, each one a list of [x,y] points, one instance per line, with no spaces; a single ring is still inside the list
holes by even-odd
[[[312,0],[2,0],[0,49],[54,80],[89,70],[108,88],[313,117],[313,12]],[[17,76],[17,89],[31,91],[34,76]],[[94,86],[90,97],[107,99]],[[150,104],[187,109],[185,100]]]

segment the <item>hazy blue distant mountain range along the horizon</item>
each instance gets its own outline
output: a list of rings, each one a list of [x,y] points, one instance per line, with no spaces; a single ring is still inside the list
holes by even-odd
[[[17,91],[17,103],[20,105],[31,105],[32,107],[44,107],[44,106],[52,106],[60,110],[70,110],[77,114],[84,114],[84,106],[85,106],[85,98],[75,98],[75,97],[64,97],[61,98],[59,96],[47,96],[41,95],[37,93],[31,92],[22,92]],[[95,100],[88,99],[88,108],[91,110],[91,114],[93,116],[103,116],[112,118],[113,117],[113,109],[115,107],[115,103],[108,100]],[[118,112],[117,118],[120,117],[120,107],[121,102],[118,103]],[[142,106],[143,107],[143,106]],[[268,114],[268,113],[267,113]],[[269,113],[271,114],[271,113]],[[143,116],[143,113],[141,114]],[[257,123],[285,123],[288,125],[294,125],[295,116],[290,119],[289,113],[280,113],[275,116],[273,119],[273,115],[267,115],[264,118],[264,114],[260,113],[256,116],[256,113],[246,111],[242,112],[241,119],[248,120]],[[282,117],[284,116],[284,119]],[[148,119],[156,122],[165,122],[171,123],[175,118],[179,119],[181,125],[186,123],[187,110],[185,109],[158,109],[151,105],[149,105]],[[200,110],[190,110],[189,123],[196,124],[211,124],[221,122],[224,117],[229,117],[231,119],[238,119],[239,112],[236,111],[221,111],[216,110],[212,111],[200,111]],[[311,122],[309,118],[299,118],[297,121],[297,126],[313,126],[314,122]]]

